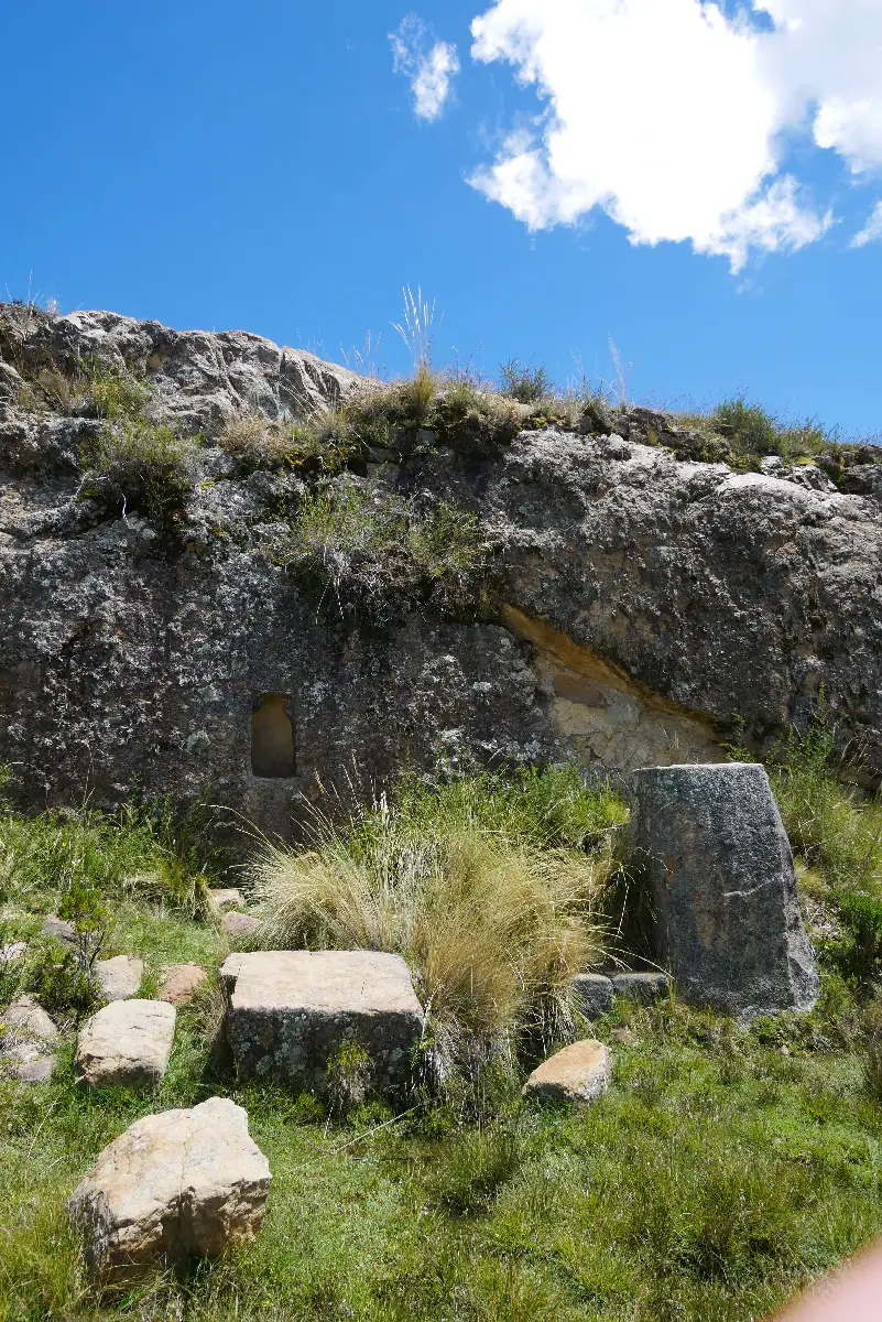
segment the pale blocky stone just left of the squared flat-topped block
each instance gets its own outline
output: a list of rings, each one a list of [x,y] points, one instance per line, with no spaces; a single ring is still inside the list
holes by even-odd
[[[90,1088],[156,1088],[174,1040],[165,1001],[111,1001],[81,1029],[74,1071]]]

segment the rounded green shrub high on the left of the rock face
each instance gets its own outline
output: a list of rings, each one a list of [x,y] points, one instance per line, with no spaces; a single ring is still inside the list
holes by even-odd
[[[184,513],[193,489],[195,448],[165,423],[123,418],[83,446],[81,463],[83,497],[166,526]]]

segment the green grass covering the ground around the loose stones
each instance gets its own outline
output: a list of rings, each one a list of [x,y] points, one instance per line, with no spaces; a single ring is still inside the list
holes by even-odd
[[[791,754],[776,788],[815,894],[831,912],[844,886],[878,895],[878,808],[829,781],[823,748]],[[63,825],[34,830],[50,828],[70,839]],[[7,822],[0,845],[21,830]],[[21,875],[26,903],[7,908],[4,939],[57,899]],[[210,924],[136,896],[114,904],[110,951],[144,954],[148,976],[223,953]],[[210,1054],[205,1007],[181,1013],[152,1099],[79,1095],[67,1047],[50,1085],[0,1083],[0,1318],[763,1317],[882,1232],[882,1107],[865,1081],[873,984],[846,984],[834,964],[817,1011],[750,1030],[676,1001],[619,1006],[594,1031],[613,1040],[627,1022],[631,1038],[614,1042],[614,1084],[584,1114],[522,1108],[512,1081],[479,1125],[441,1107],[392,1125],[380,1107],[329,1122],[310,1097],[239,1088]],[[95,1296],[65,1198],[133,1118],[213,1093],[247,1107],[273,1170],[257,1241]]]

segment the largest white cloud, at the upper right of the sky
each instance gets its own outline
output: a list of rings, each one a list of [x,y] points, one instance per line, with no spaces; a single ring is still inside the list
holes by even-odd
[[[746,0],[745,0],[746,3]],[[473,56],[541,112],[471,178],[531,229],[594,208],[634,243],[794,251],[832,225],[782,161],[794,137],[882,169],[881,0],[495,0]],[[771,21],[768,21],[771,20]]]

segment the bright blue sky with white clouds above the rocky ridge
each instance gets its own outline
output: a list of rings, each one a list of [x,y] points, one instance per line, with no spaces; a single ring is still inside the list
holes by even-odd
[[[0,291],[882,428],[882,5],[613,8],[7,4]]]

